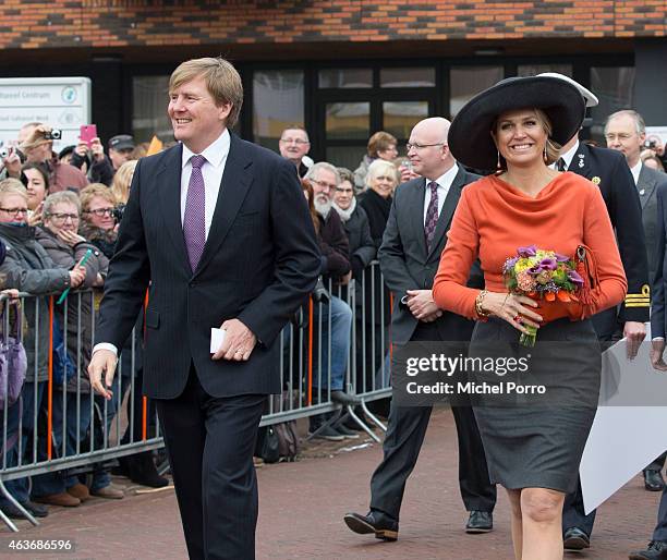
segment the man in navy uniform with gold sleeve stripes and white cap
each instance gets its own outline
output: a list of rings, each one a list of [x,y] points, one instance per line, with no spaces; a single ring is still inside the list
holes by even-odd
[[[581,93],[586,107],[597,105],[595,95],[570,77],[555,73],[541,75],[571,83]],[[628,279],[628,295],[619,308],[611,307],[593,316],[593,326],[603,344],[609,345],[621,336],[626,337],[628,356],[634,357],[646,336],[644,324],[648,320],[650,288],[642,207],[630,169],[620,154],[581,143],[577,135],[562,146],[556,167],[585,176],[601,190],[616,231]],[[577,491],[566,497],[562,510],[565,548],[589,548],[594,522],[595,511],[584,514],[581,485],[578,485]]]

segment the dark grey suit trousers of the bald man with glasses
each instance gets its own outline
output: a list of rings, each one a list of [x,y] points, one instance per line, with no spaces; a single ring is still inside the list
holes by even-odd
[[[439,340],[434,324],[420,324],[412,340]],[[396,406],[391,402],[389,426],[383,445],[384,459],[371,479],[371,509],[395,520],[403,500],[405,483],[416,464],[430,406]],[[459,488],[468,511],[494,511],[496,486],[490,484],[486,454],[477,421],[471,406],[452,406],[459,438]]]

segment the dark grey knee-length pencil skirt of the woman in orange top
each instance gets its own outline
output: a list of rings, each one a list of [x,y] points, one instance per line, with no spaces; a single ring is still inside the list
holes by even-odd
[[[492,483],[508,489],[577,487],[579,463],[595,417],[601,350],[591,320],[555,320],[538,330],[534,348],[519,331],[490,318],[478,322],[471,356],[523,357],[527,372],[488,372],[476,381],[545,387],[543,394],[487,395],[473,401]],[[501,375],[502,374],[502,375]]]

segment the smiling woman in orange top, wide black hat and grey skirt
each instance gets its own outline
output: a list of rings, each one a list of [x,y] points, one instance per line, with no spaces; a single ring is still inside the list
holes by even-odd
[[[521,560],[562,558],[563,499],[577,485],[599,389],[599,346],[587,317],[622,302],[627,290],[598,187],[548,167],[559,144],[581,126],[584,110],[579,92],[562,81],[509,78],[472,99],[449,131],[459,161],[498,172],[463,190],[435,278],[435,302],[478,321],[471,350],[506,342],[518,355],[509,343],[527,332],[526,325],[539,327],[529,352],[533,362],[549,343],[580,343],[579,351],[531,364],[556,379],[557,405],[494,406],[489,398],[492,405],[475,406],[492,482],[505,486],[510,498],[514,555]],[[578,246],[587,246],[598,278],[593,303],[538,305],[509,294],[502,265],[518,247],[530,245],[571,257]],[[483,291],[465,285],[476,258]],[[581,344],[587,344],[585,352]],[[570,398],[579,405],[563,404]]]

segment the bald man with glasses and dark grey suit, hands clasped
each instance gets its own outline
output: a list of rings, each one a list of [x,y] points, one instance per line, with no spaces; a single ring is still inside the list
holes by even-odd
[[[395,193],[387,229],[378,251],[385,281],[395,295],[391,341],[470,341],[473,321],[439,309],[433,301],[433,279],[438,269],[461,190],[477,175],[454,161],[447,145],[449,121],[433,118],[419,122],[410,135],[408,156],[415,173]],[[471,279],[483,287],[482,272]],[[384,459],[371,480],[371,511],[348,513],[355,533],[396,540],[405,483],[416,463],[432,409],[391,404]],[[459,435],[459,484],[471,512],[466,531],[493,528],[496,487],[490,484],[480,431],[470,406],[452,406]]]

